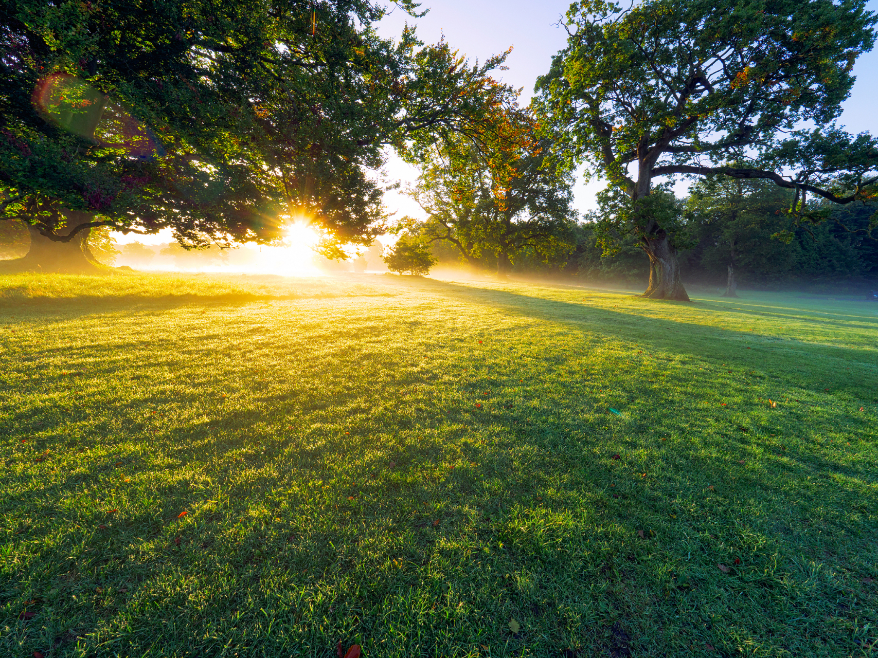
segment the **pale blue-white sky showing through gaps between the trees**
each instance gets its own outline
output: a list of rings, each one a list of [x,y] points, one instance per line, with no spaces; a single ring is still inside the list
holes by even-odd
[[[391,5],[392,6],[392,5]],[[485,61],[493,54],[502,53],[513,46],[507,59],[507,71],[498,71],[503,82],[522,88],[522,104],[533,95],[534,84],[539,75],[548,71],[552,55],[565,46],[566,32],[559,25],[569,0],[425,0],[422,9],[429,11],[423,18],[412,18],[405,11],[393,7],[390,15],[378,25],[378,32],[385,38],[398,38],[403,27],[417,26],[417,33],[425,43],[435,43],[444,38],[450,46],[471,61]],[[878,11],[878,0],[867,4],[870,11]],[[849,132],[875,132],[878,130],[878,48],[863,54],[853,68],[857,82],[851,97],[843,105],[844,113],[839,123]],[[392,156],[385,174],[392,181],[400,181],[403,187],[414,182],[417,172],[399,158]],[[686,194],[688,182],[680,181],[675,187],[678,195]],[[580,212],[594,209],[595,193],[605,183],[599,180],[584,182],[579,176],[574,186],[574,203]],[[396,217],[410,215],[422,218],[423,212],[414,201],[401,192],[391,191],[385,195],[388,211]],[[167,242],[165,232],[155,236],[119,236],[119,242],[140,240],[150,244]]]

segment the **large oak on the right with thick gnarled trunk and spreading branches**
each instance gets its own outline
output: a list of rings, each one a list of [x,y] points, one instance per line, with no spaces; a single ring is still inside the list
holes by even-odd
[[[645,0],[572,4],[567,47],[537,82],[560,157],[585,161],[629,208],[604,221],[637,234],[647,297],[687,300],[674,236],[650,199],[669,175],[763,179],[836,204],[874,194],[878,149],[831,125],[874,43],[866,0]],[[817,128],[790,135],[802,122]],[[730,162],[745,165],[730,166]],[[810,216],[810,219],[815,217]]]

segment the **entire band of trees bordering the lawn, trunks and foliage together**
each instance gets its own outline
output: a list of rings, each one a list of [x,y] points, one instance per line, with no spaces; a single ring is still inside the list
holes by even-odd
[[[836,123],[874,46],[867,0],[579,0],[528,106],[499,81],[508,51],[381,37],[374,0],[149,6],[0,11],[0,220],[30,237],[3,271],[102,271],[108,229],[278,244],[304,216],[329,260],[395,231],[500,277],[661,299],[874,279],[878,139]],[[426,221],[385,207],[390,154],[420,168]],[[586,218],[577,171],[608,183]]]

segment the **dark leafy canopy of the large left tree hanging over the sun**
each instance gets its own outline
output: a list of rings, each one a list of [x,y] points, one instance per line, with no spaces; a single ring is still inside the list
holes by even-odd
[[[369,0],[4,4],[4,211],[52,231],[64,208],[170,226],[191,245],[270,242],[306,214],[326,254],[368,244],[384,211],[366,170],[385,145],[479,142],[515,104],[489,75],[505,55],[469,66],[410,29],[382,39],[384,14]]]

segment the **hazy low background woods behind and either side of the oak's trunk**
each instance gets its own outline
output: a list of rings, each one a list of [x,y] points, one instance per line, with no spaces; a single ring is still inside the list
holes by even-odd
[[[681,199],[666,193],[676,213],[666,225],[673,227],[686,283],[731,292],[737,285],[755,289],[846,287],[852,292],[873,290],[878,285],[878,240],[868,232],[876,205],[828,208],[827,220],[795,225],[787,212],[793,193],[771,183],[711,179],[695,183],[689,191],[689,196]],[[554,226],[551,238],[543,235],[541,241],[524,244],[514,253],[507,251],[504,255],[511,261],[508,273],[575,277],[582,282],[629,287],[646,285],[650,261],[644,257],[637,232],[615,232],[606,218],[602,221],[602,215],[613,211],[607,196],[602,195],[598,210]],[[522,222],[522,228],[528,225],[528,221]],[[451,227],[445,240],[435,240],[438,231],[431,221],[412,230],[431,243],[439,267],[463,266],[481,273],[493,272],[499,264],[502,268],[504,257],[490,239],[493,232],[476,232],[470,225],[466,229],[468,232],[458,234]],[[468,247],[469,256],[458,247],[460,241]],[[547,245],[551,248],[545,248]]]

